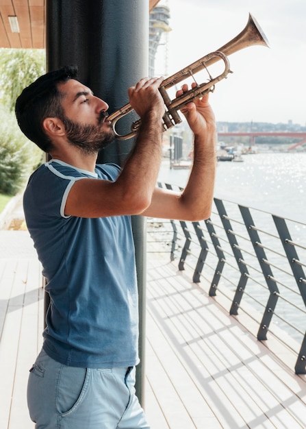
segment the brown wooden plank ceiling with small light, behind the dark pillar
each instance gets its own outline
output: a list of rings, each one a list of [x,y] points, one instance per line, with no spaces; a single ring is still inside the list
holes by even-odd
[[[149,1],[152,10],[160,0]],[[8,16],[17,17],[19,33]],[[45,0],[0,0],[0,48],[44,49],[45,25]]]

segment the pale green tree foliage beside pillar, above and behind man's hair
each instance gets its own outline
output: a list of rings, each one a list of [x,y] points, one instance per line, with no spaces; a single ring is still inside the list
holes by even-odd
[[[14,110],[16,98],[45,72],[43,49],[0,49],[1,101]]]

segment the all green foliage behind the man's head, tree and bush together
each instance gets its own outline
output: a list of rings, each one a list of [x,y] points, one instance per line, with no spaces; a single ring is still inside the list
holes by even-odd
[[[44,71],[43,50],[0,49],[0,193],[15,195],[42,162],[42,151],[23,135],[13,112],[23,88]]]

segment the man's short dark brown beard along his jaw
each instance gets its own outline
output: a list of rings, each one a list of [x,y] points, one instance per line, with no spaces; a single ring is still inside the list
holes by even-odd
[[[62,118],[66,136],[70,143],[78,147],[84,155],[98,154],[101,149],[110,145],[115,138],[112,127],[109,130],[101,129],[101,124],[105,117],[107,117],[107,114],[101,112],[98,125],[81,125],[67,117]]]

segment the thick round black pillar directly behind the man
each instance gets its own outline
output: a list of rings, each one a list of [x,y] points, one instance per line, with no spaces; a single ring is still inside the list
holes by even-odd
[[[79,79],[110,106],[127,103],[127,88],[148,75],[149,0],[47,0],[47,71],[77,64]],[[120,119],[123,126],[131,119]],[[129,126],[128,126],[129,131]],[[132,140],[116,140],[98,162],[122,164]],[[136,390],[144,402],[145,219],[133,217],[140,294],[140,359]]]

